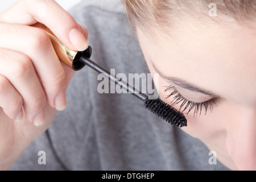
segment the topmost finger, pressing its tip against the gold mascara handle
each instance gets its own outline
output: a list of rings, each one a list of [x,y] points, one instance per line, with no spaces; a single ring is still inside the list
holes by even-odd
[[[84,51],[88,48],[86,28],[55,1],[23,0],[0,14],[0,21],[32,25],[45,24],[67,47]]]

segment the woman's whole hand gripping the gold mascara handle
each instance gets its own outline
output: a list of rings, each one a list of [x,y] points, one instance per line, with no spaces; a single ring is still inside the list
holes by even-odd
[[[0,13],[0,169],[8,169],[65,108],[74,71],[60,63],[45,24],[67,47],[88,48],[88,32],[55,1],[20,0]]]

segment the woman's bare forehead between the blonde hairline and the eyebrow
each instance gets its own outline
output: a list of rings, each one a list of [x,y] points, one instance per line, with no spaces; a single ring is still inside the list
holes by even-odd
[[[255,106],[256,26],[186,25],[153,39],[138,31],[138,38],[146,59],[150,56],[165,75]]]

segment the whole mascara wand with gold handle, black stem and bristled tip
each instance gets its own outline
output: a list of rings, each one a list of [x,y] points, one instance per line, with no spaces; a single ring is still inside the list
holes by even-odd
[[[177,127],[184,127],[187,126],[187,119],[184,117],[179,110],[176,110],[174,107],[166,104],[160,98],[156,100],[151,100],[148,98],[146,94],[143,94],[141,91],[135,89],[133,86],[130,86],[126,82],[122,81],[120,78],[112,75],[109,71],[105,68],[102,68],[100,65],[94,63],[90,60],[90,56],[92,55],[92,48],[89,46],[88,49],[82,52],[77,52],[69,49],[63,43],[60,42],[56,36],[41,23],[34,24],[34,27],[38,27],[43,29],[49,35],[51,39],[52,45],[55,48],[59,59],[69,67],[73,68],[75,71],[79,71],[85,65],[94,69],[98,73],[103,73],[106,77],[110,80],[114,81],[116,84],[122,84],[122,88],[129,91],[129,93],[133,94],[135,97],[139,98],[141,101],[144,102],[144,107],[150,110],[152,113],[158,115],[158,117],[164,119],[171,125]]]

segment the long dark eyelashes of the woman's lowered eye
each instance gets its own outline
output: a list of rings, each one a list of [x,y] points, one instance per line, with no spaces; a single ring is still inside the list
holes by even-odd
[[[194,109],[194,117],[197,116],[197,114],[201,115],[203,107],[205,108],[205,115],[207,114],[208,109],[210,109],[212,113],[213,106],[216,105],[217,98],[212,98],[209,101],[205,101],[201,103],[189,101],[183,96],[181,96],[181,94],[177,91],[177,89],[172,85],[167,86],[164,92],[171,92],[166,98],[170,98],[171,96],[174,96],[174,100],[172,100],[171,106],[181,103],[179,111],[181,111],[182,107],[184,107],[184,109],[181,111],[181,113],[183,113],[186,109],[188,109],[188,112],[185,114],[190,113],[191,110]]]

